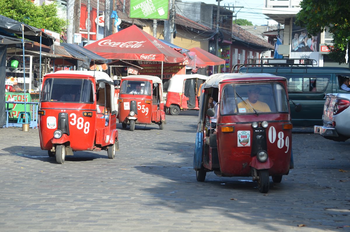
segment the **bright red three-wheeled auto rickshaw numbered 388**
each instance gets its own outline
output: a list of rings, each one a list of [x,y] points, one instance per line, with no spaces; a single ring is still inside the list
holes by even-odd
[[[101,71],[56,71],[43,77],[39,137],[59,164],[73,151],[119,150],[114,83]]]

